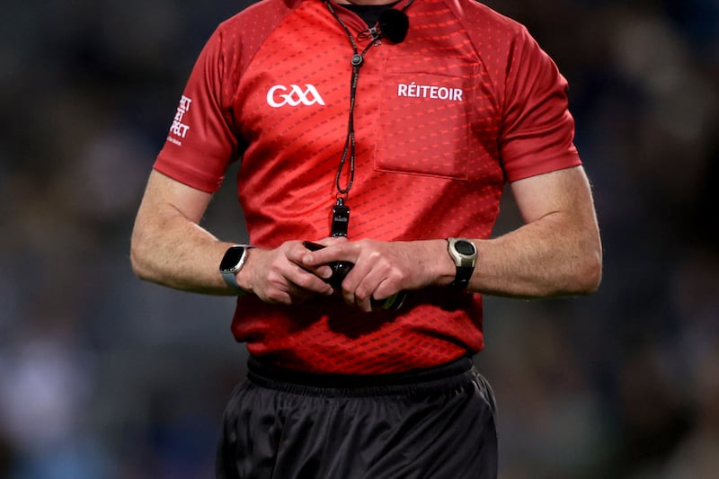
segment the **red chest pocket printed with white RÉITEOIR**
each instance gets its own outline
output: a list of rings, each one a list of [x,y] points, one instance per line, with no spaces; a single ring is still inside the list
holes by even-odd
[[[477,70],[456,58],[386,58],[375,170],[466,180]]]

